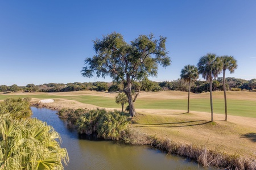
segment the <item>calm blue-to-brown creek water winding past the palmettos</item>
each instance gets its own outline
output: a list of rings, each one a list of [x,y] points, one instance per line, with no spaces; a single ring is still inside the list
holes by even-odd
[[[205,169],[195,162],[167,155],[146,146],[131,146],[113,141],[89,141],[67,128],[56,111],[31,107],[33,116],[46,121],[60,133],[61,147],[68,150],[69,164],[64,169]]]

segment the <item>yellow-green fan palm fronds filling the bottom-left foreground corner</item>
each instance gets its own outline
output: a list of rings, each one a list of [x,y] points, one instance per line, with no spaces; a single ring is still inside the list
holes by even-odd
[[[68,153],[60,148],[59,133],[46,122],[0,117],[0,169],[64,169]],[[57,139],[57,140],[56,140]]]

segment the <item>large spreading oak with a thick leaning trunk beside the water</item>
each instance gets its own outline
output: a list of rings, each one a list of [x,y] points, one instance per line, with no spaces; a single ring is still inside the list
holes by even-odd
[[[113,32],[93,42],[96,55],[85,59],[82,76],[90,78],[96,73],[97,77],[110,76],[114,82],[122,82],[130,116],[135,116],[131,91],[133,83],[147,76],[156,76],[159,64],[163,67],[171,65],[166,51],[166,37],[155,39],[152,34],[141,35],[127,43],[120,33]]]

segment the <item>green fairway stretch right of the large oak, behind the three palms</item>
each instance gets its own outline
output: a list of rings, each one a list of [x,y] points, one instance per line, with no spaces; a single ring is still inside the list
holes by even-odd
[[[139,100],[136,108],[176,109],[187,111],[187,99]],[[213,99],[213,112],[225,114],[224,99]],[[210,112],[210,99],[191,99],[190,111]],[[228,114],[244,117],[256,117],[256,102],[247,100],[228,100]]]

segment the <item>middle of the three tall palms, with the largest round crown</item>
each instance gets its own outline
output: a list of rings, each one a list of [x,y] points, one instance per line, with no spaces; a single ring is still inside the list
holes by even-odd
[[[210,84],[210,113],[213,122],[213,104],[212,104],[212,80],[217,78],[218,74],[221,73],[221,62],[220,57],[216,54],[207,53],[207,55],[199,59],[197,67],[199,73],[202,74],[203,78],[206,79]]]

